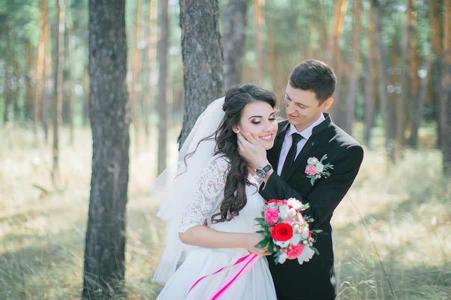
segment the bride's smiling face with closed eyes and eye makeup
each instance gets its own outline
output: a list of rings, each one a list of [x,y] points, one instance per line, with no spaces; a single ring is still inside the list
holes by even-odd
[[[265,149],[271,149],[277,134],[276,112],[270,104],[257,101],[246,104],[240,118],[240,124],[234,126],[246,136],[248,132],[258,140]]]

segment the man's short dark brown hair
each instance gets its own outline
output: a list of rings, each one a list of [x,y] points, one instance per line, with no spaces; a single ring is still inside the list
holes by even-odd
[[[316,59],[309,59],[295,66],[289,80],[294,88],[313,91],[320,105],[332,96],[337,83],[332,68]]]

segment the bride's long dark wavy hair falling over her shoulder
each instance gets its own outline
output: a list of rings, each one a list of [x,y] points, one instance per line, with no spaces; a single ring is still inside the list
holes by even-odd
[[[214,134],[216,142],[215,155],[223,154],[229,159],[229,169],[225,180],[224,199],[219,206],[219,212],[211,216],[211,222],[230,221],[246,205],[246,185],[253,184],[248,180],[248,163],[238,150],[235,125],[240,125],[243,108],[248,103],[264,101],[276,107],[276,96],[266,88],[245,83],[232,86],[225,93],[222,110],[225,112],[219,127]]]

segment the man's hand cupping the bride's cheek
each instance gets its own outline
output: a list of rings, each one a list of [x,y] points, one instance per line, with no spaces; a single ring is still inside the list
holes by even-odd
[[[244,137],[241,132],[238,133],[238,149],[252,167],[263,167],[268,164],[266,158],[266,150],[251,133],[247,133]]]

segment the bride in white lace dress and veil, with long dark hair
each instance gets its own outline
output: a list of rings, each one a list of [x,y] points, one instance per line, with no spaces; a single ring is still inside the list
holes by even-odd
[[[233,86],[199,116],[175,169],[158,177],[158,186],[168,186],[157,215],[168,223],[153,278],[165,285],[157,299],[276,299],[269,253],[255,247],[263,235],[254,221],[265,203],[259,176],[271,166],[256,172],[237,144],[241,132],[273,146],[275,105],[263,87]]]

